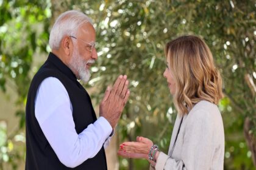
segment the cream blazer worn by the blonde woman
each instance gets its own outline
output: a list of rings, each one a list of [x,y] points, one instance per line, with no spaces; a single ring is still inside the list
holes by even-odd
[[[168,155],[160,152],[156,165],[151,165],[150,169],[223,169],[224,127],[218,107],[200,101],[183,116],[182,123],[181,120],[177,115]]]

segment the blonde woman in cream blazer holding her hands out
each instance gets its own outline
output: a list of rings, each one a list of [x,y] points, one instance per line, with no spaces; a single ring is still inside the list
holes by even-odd
[[[218,104],[222,80],[202,39],[180,36],[166,44],[166,78],[178,115],[168,154],[151,140],[124,142],[118,154],[147,158],[151,169],[223,169],[224,128]]]

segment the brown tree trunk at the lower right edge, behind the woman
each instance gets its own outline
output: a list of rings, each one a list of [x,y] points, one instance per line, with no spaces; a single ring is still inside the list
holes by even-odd
[[[252,121],[249,117],[246,117],[246,119],[244,120],[244,137],[250,151],[252,152],[252,161],[254,162],[254,166],[256,167],[256,138],[254,134],[250,131],[250,129],[252,129]]]

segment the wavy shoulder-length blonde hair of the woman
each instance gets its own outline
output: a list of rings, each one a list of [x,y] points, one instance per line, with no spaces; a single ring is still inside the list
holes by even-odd
[[[180,36],[166,44],[165,56],[176,81],[174,105],[180,115],[201,100],[218,104],[222,98],[222,80],[212,53],[197,36]]]

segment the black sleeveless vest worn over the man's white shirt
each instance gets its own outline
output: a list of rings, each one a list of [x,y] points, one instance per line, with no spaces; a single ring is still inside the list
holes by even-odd
[[[98,154],[90,158],[76,168],[68,168],[63,165],[48,140],[35,117],[35,97],[40,83],[48,77],[55,77],[62,82],[68,91],[69,99],[73,107],[73,120],[77,134],[97,120],[90,96],[82,85],[77,81],[74,73],[62,61],[50,53],[48,60],[41,66],[32,80],[27,95],[26,104],[26,168],[35,169],[107,169],[104,147],[102,146]],[[59,124],[65,126],[65,124]]]

